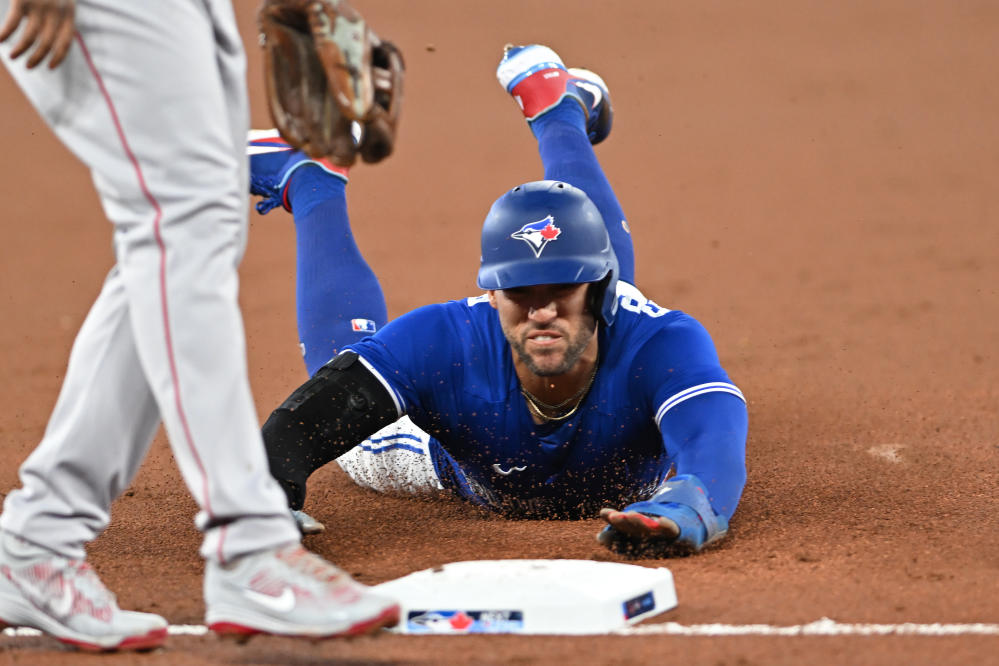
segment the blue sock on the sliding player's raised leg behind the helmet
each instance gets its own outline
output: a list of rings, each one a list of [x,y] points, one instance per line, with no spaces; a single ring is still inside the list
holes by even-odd
[[[533,123],[545,178],[561,180],[586,192],[604,218],[620,265],[619,279],[635,283],[635,248],[624,212],[586,136],[586,116],[579,103],[564,99]]]

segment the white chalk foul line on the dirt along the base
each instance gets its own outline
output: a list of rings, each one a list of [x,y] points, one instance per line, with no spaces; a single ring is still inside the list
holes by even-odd
[[[172,624],[171,636],[204,636],[208,627],[201,624]],[[999,624],[851,624],[827,617],[808,624],[776,626],[772,624],[679,624],[663,622],[625,627],[611,632],[623,636],[999,636]],[[8,627],[3,635],[14,638],[41,636],[37,629]]]

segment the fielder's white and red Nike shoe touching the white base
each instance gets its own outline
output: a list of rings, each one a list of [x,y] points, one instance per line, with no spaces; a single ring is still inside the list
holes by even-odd
[[[359,636],[399,621],[399,604],[299,544],[205,567],[205,623],[220,635]]]

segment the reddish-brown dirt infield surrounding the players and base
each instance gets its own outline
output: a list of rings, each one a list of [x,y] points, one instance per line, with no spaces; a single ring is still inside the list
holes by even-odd
[[[254,2],[241,0],[255,126]],[[599,71],[598,148],[639,287],[713,334],[749,402],[749,483],[730,538],[671,561],[679,607],[647,624],[999,622],[999,7],[357,0],[401,47],[398,152],[352,173],[358,244],[389,314],[475,293],[478,231],[540,177],[493,77],[505,42]],[[957,6],[955,6],[955,4]],[[459,28],[459,26],[464,26]],[[42,435],[69,346],[112,263],[88,174],[6,74],[0,109],[0,491]],[[242,266],[261,417],[304,379],[294,243],[254,214]],[[615,559],[595,520],[505,521],[379,497],[333,469],[306,542],[378,583],[467,559]],[[91,560],[123,606],[201,624],[194,504],[159,436]],[[86,656],[0,637],[0,663],[987,663],[999,636],[170,639]]]

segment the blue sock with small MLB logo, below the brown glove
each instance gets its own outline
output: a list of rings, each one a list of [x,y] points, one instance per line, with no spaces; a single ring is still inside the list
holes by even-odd
[[[311,377],[344,345],[388,321],[378,278],[361,256],[347,215],[347,184],[312,166],[291,178],[298,336]]]

